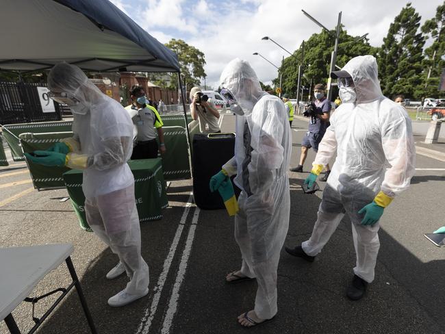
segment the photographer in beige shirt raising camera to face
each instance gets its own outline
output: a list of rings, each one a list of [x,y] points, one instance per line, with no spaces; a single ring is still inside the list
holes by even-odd
[[[190,112],[194,120],[199,120],[199,131],[201,133],[221,132],[218,125],[220,114],[214,103],[201,92],[201,88],[194,87],[190,90],[190,100],[192,100]]]

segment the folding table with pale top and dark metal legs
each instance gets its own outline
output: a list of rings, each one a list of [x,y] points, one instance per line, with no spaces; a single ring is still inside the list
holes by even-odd
[[[34,333],[73,287],[76,287],[91,332],[97,333],[71,261],[70,255],[73,251],[72,244],[0,248],[0,321],[5,320],[10,333],[21,333],[12,316],[12,311],[17,305],[23,301],[33,303],[33,320],[36,324],[28,333]],[[43,296],[28,298],[38,282],[51,270],[58,268],[63,261],[68,266],[73,282],[68,287],[60,287]],[[41,318],[35,318],[34,304],[55,292],[62,292],[62,294]]]

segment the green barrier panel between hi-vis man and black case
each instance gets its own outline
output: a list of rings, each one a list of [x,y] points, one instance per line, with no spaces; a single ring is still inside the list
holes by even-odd
[[[162,155],[162,169],[166,181],[190,179],[190,164],[186,129],[162,127],[166,153]]]

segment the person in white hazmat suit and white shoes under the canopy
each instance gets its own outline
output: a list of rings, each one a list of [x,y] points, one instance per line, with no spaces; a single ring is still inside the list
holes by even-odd
[[[140,253],[134,178],[127,164],[133,147],[133,123],[124,107],[103,94],[77,66],[65,62],[55,65],[48,75],[48,88],[49,97],[71,108],[74,136],[27,158],[46,166],[84,170],[82,190],[88,224],[119,258],[107,278],[127,272],[130,279],[108,304],[126,305],[149,292],[149,266]]]

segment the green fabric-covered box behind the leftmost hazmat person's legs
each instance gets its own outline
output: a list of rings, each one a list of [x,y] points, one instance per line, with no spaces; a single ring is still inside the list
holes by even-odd
[[[134,194],[139,221],[160,220],[162,209],[168,207],[161,159],[130,160],[128,166],[134,176]],[[80,227],[86,231],[91,231],[86,221],[82,177],[82,171],[77,169],[69,170],[63,175],[71,204],[73,204],[74,211],[79,218]]]

